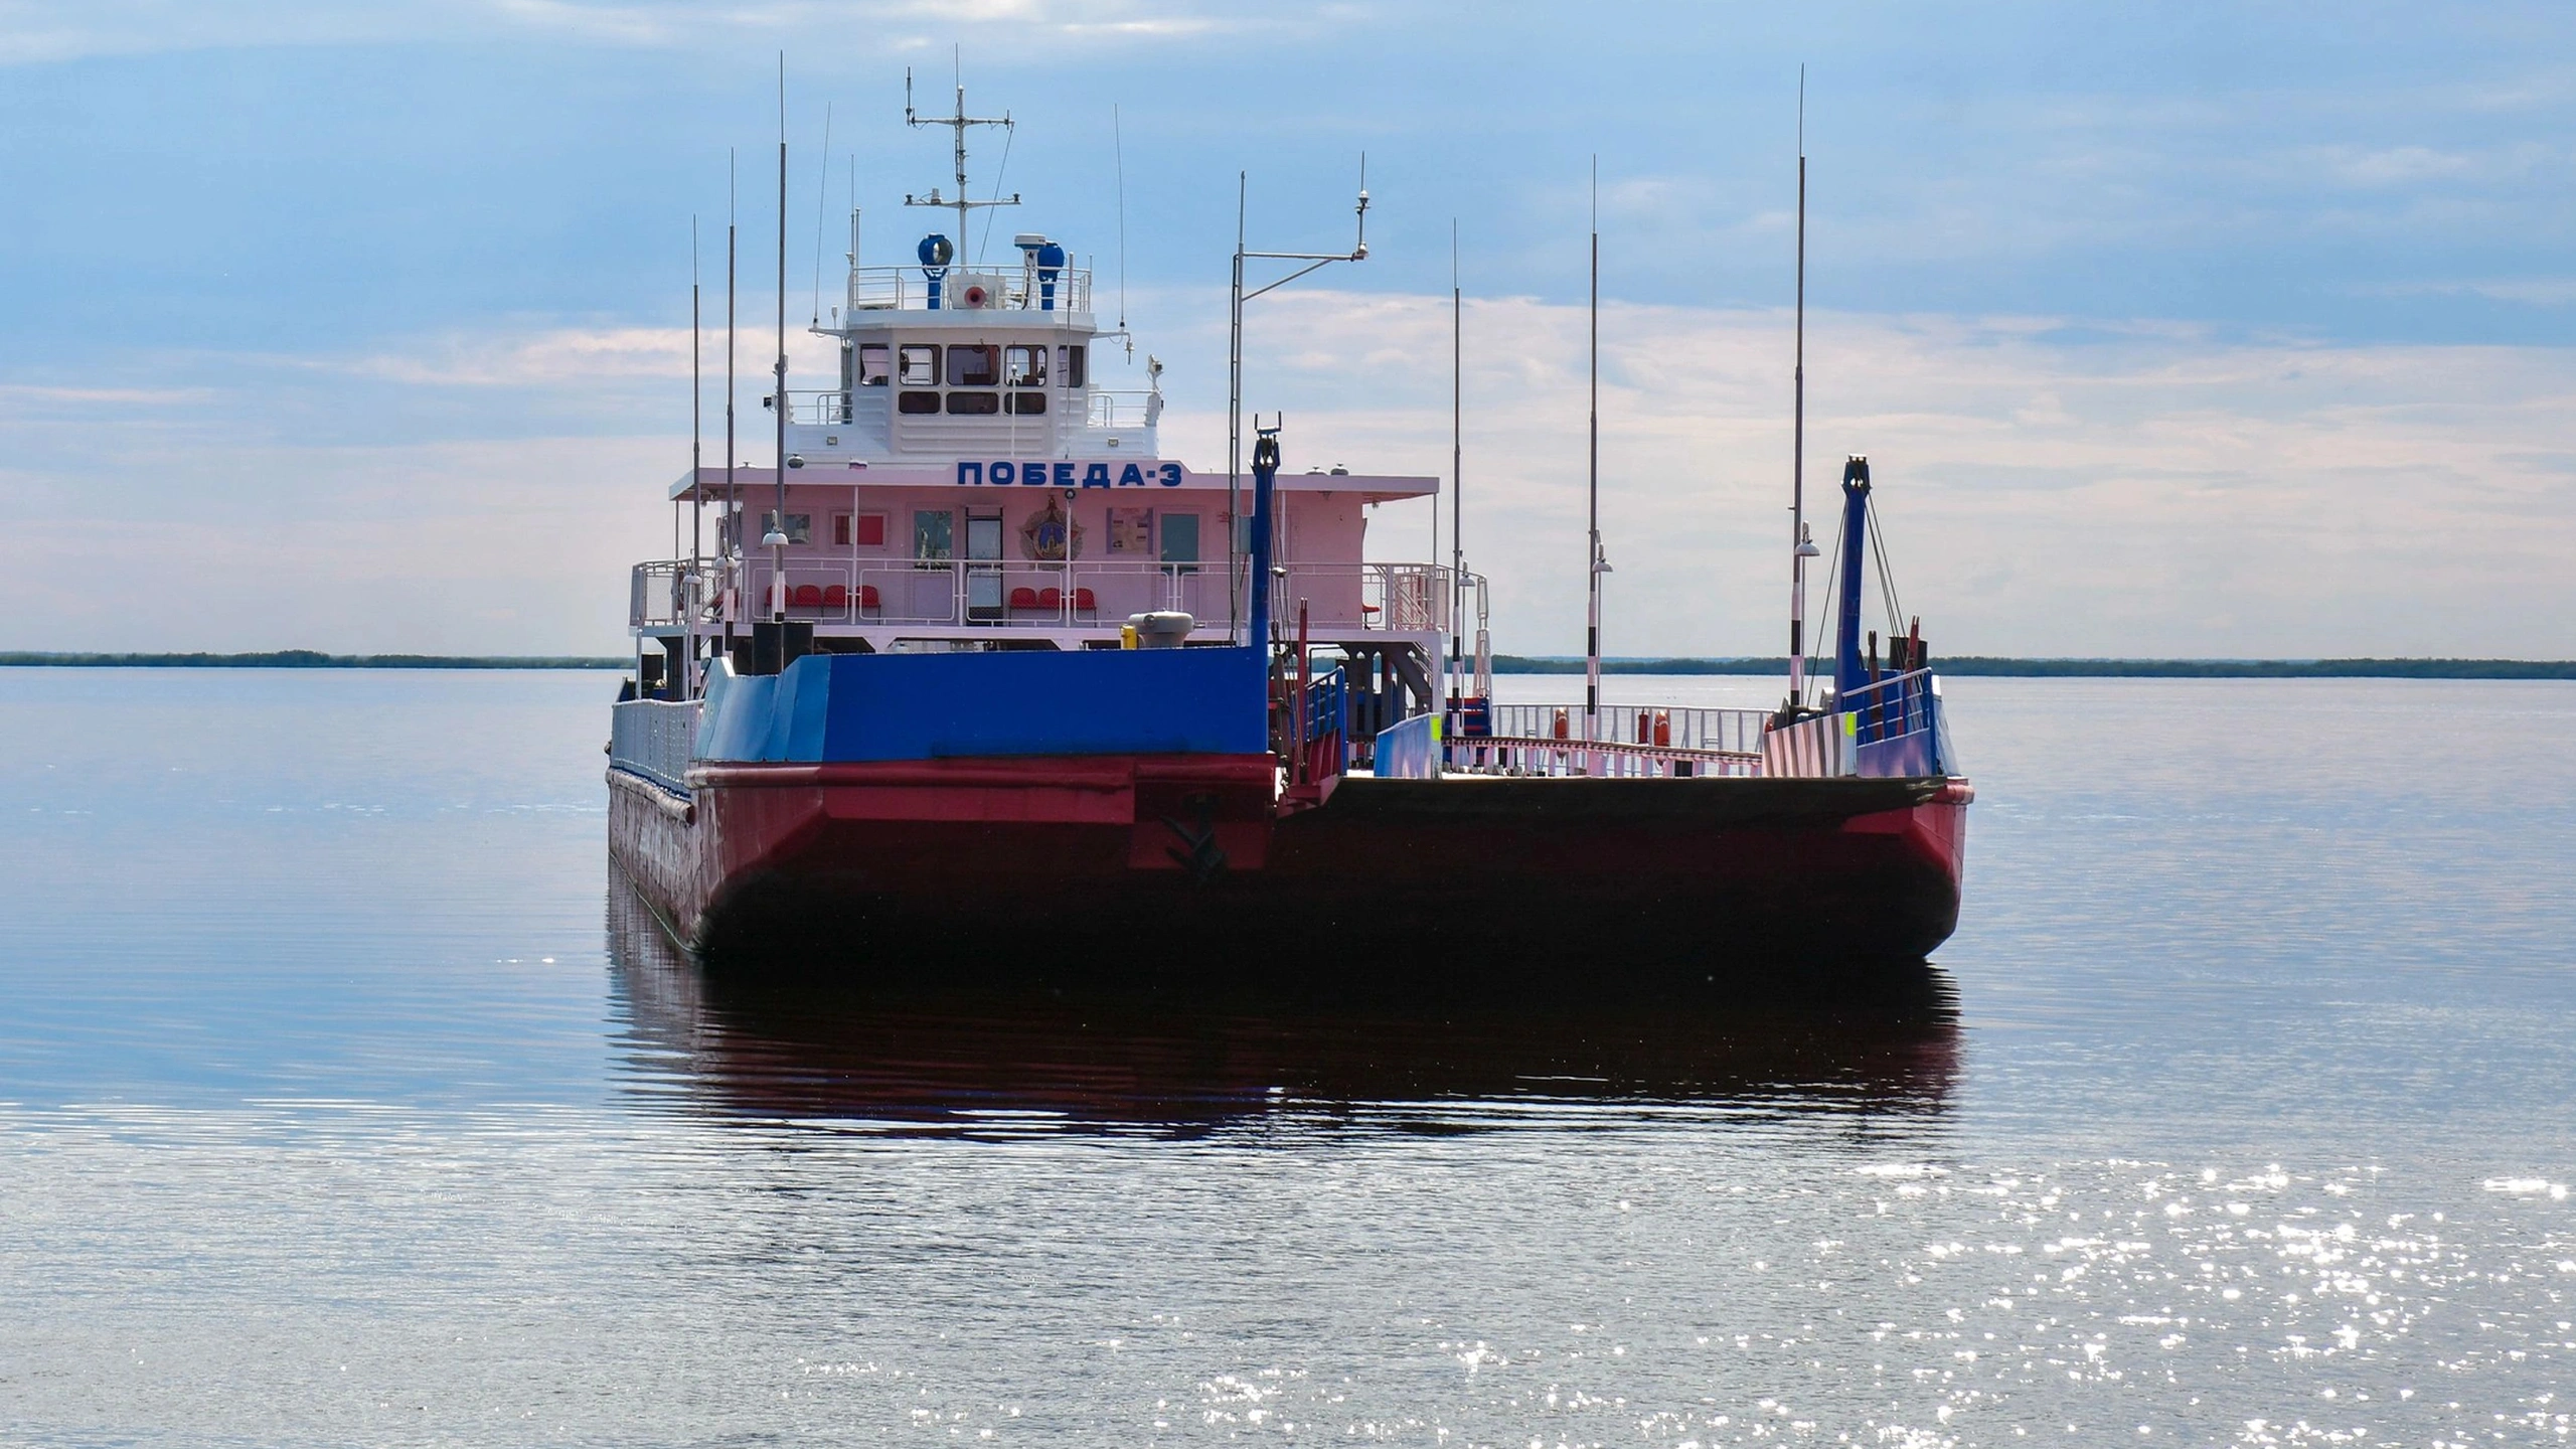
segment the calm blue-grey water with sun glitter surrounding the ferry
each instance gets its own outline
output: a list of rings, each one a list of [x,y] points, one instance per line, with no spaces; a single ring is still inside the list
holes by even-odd
[[[1955,681],[1935,967],[1443,1013],[706,982],[608,694],[0,670],[0,1441],[2576,1436],[2571,686]]]

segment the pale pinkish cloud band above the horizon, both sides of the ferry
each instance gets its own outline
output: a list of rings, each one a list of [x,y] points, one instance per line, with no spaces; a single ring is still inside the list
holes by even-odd
[[[1144,289],[1136,315],[1172,364],[1164,456],[1221,467],[1221,294]],[[1587,317],[1492,299],[1463,330],[1466,552],[1494,580],[1499,645],[1566,652]],[[1785,312],[1605,307],[1613,652],[1777,650],[1788,356]],[[791,384],[824,361],[801,338]],[[1110,345],[1097,371],[1126,384]],[[1450,472],[1445,297],[1275,294],[1244,376],[1247,407],[1288,413],[1291,469]],[[626,565],[667,547],[662,487],[688,456],[688,333],[667,327],[435,335],[229,376],[198,358],[178,387],[126,382],[0,389],[18,441],[0,495],[41,559],[0,585],[23,639],[613,650]],[[765,382],[747,371],[750,456]],[[1811,312],[1808,508],[1829,544],[1842,456],[1870,456],[1904,606],[1950,652],[2563,655],[2571,407],[2566,348]],[[1440,529],[1445,557],[1445,503]],[[1381,508],[1370,552],[1430,554],[1430,508]],[[124,578],[191,611],[111,606],[100,580]]]

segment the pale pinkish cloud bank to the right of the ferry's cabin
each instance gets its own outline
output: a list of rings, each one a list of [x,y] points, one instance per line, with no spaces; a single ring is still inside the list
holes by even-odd
[[[1260,327],[1301,364],[1255,364],[1247,387],[1288,407],[1293,464],[1448,472],[1443,299],[1303,294]],[[1481,302],[1466,338],[1468,554],[1497,583],[1499,637],[1561,652],[1582,614],[1584,315]],[[1775,645],[1788,343],[1780,312],[1605,309],[1615,652]],[[1350,369],[1314,366],[1329,356]],[[1953,650],[2563,655],[2571,405],[2563,348],[1824,312],[1808,500],[1829,539],[1842,454],[1873,459],[1899,588]],[[1203,407],[1185,397],[1170,423],[1193,456],[1221,446]],[[1383,508],[1381,529],[1383,557],[1430,547],[1419,508]]]

